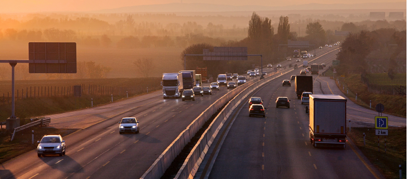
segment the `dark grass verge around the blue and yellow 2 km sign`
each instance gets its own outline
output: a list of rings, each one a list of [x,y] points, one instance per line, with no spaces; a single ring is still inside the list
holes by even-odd
[[[366,146],[364,146],[363,133],[366,135]],[[399,165],[402,165],[402,178],[406,179],[406,127],[390,127],[388,133],[386,153],[385,136],[380,136],[378,152],[375,128],[353,127],[348,136],[386,179],[399,179]]]

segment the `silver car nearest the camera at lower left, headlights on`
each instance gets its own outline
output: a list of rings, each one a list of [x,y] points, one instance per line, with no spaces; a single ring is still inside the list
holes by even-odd
[[[47,154],[65,155],[65,141],[60,135],[45,135],[41,141],[37,141],[37,156]]]

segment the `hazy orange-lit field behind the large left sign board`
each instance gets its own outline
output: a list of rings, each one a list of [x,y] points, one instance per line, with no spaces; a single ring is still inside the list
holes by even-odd
[[[28,43],[19,41],[0,41],[0,59],[28,59]],[[133,62],[140,58],[151,58],[155,69],[150,77],[161,77],[163,73],[174,73],[183,70],[180,54],[184,48],[161,47],[161,48],[138,48],[118,49],[116,47],[88,47],[77,46],[77,62],[94,61],[112,68],[108,78],[136,78]],[[0,66],[10,66],[0,64]],[[27,69],[28,71],[28,69]],[[30,74],[40,76],[41,74]],[[10,75],[11,76],[11,75]],[[17,78],[18,74],[16,74]]]

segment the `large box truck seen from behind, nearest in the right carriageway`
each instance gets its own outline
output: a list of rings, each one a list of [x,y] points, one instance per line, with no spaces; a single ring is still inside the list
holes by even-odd
[[[334,94],[311,94],[310,141],[314,147],[345,148],[347,99]]]

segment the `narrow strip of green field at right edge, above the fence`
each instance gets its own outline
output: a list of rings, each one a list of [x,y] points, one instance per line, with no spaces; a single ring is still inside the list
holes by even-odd
[[[395,78],[391,80],[387,73],[381,74],[367,74],[369,83],[380,85],[406,85],[406,73],[396,74]]]

